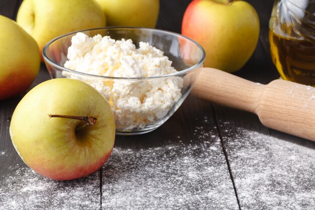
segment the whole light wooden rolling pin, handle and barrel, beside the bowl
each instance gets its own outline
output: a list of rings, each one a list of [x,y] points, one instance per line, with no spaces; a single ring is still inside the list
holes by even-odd
[[[203,68],[191,93],[258,115],[267,127],[315,141],[315,88],[274,80],[254,83],[214,68]]]

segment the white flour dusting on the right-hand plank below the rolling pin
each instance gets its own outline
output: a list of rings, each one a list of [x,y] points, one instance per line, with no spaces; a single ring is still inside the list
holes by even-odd
[[[243,128],[235,133],[224,141],[241,209],[315,209],[314,144]]]

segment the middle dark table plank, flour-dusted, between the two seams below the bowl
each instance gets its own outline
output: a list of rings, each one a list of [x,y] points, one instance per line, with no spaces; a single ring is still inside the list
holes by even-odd
[[[239,209],[209,103],[188,97],[169,121],[117,136],[103,209]]]

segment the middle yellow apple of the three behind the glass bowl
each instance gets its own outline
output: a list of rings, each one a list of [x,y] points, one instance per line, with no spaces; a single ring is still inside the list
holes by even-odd
[[[96,0],[102,6],[108,26],[155,28],[159,0]]]

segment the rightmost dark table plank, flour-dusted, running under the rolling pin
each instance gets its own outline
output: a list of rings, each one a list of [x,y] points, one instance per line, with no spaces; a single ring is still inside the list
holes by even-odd
[[[270,57],[266,21],[254,55],[236,73],[264,84],[279,77]],[[254,114],[214,107],[240,208],[314,209],[315,143],[268,129]]]

